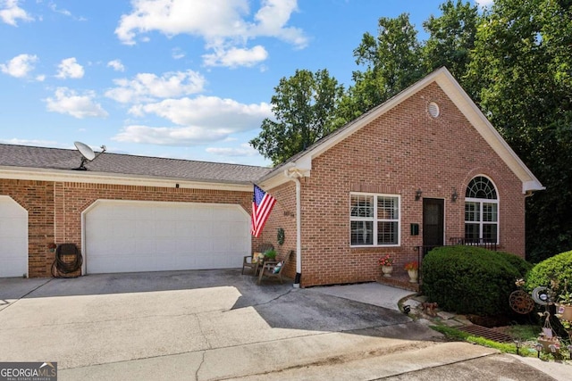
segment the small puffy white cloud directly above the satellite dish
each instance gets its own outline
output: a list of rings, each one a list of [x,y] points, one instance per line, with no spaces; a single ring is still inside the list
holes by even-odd
[[[46,98],[46,109],[49,112],[69,114],[75,118],[88,117],[105,118],[108,114],[101,104],[94,102],[96,97],[92,91],[78,95],[74,90],[67,87],[58,87],[54,98]]]

